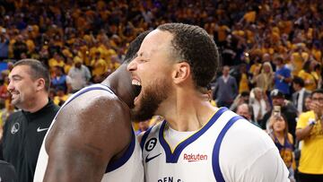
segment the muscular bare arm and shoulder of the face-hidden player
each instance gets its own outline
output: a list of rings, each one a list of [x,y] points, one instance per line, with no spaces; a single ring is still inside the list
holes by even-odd
[[[101,92],[83,94],[57,116],[46,141],[44,181],[100,181],[109,161],[127,148],[128,110]]]

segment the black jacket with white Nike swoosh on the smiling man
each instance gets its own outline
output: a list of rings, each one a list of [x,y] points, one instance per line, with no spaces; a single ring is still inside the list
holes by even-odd
[[[59,107],[53,101],[35,113],[17,111],[4,125],[4,160],[13,164],[18,180],[33,180],[39,150]]]

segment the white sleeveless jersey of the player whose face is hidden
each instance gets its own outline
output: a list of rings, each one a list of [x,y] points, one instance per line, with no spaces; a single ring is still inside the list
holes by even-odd
[[[69,102],[79,97],[84,92],[93,91],[93,90],[107,91],[107,94],[115,95],[115,93],[113,93],[113,91],[111,91],[109,87],[102,84],[93,84],[89,87],[83,88],[81,91],[77,91],[76,93],[74,93],[74,95],[72,95],[68,100],[65,101],[65,104],[60,109],[64,108]],[[56,117],[54,118],[48,131],[54,125],[55,121],[56,121]],[[36,166],[36,171],[34,176],[34,182],[43,181],[45,171],[48,166],[48,153],[45,150],[46,138],[47,138],[47,134],[40,148],[39,158],[37,161],[37,166]],[[106,172],[101,181],[102,182],[107,182],[107,181],[142,182],[144,181],[144,167],[142,163],[141,154],[142,152],[140,150],[139,143],[137,142],[135,133],[133,131],[131,143],[129,144],[127,151],[123,154],[123,156],[120,159],[115,160],[113,162],[109,162],[109,165],[107,166]]]

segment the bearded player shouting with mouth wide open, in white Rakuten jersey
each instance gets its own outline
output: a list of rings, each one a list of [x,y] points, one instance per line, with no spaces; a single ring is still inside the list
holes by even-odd
[[[135,119],[165,118],[142,138],[146,181],[288,181],[270,137],[205,97],[218,62],[205,30],[166,23],[146,36],[127,66],[141,86]]]

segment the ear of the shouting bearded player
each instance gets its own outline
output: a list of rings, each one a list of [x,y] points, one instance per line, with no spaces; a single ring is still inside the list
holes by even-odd
[[[175,65],[175,69],[172,73],[172,79],[174,83],[184,82],[190,76],[190,66],[187,62],[181,62]]]

